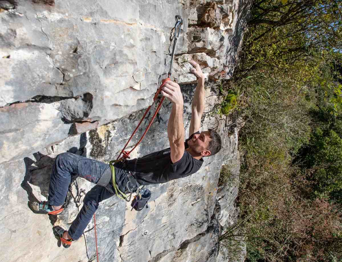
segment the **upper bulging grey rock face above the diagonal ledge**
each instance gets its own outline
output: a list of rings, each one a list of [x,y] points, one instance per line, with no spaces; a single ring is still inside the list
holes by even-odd
[[[49,110],[47,114],[58,122],[49,132],[58,134],[36,129],[31,133],[34,144],[8,135],[23,129],[21,121],[4,125],[1,141],[10,146],[1,147],[0,163],[79,133],[78,122],[97,121],[101,126],[147,107],[169,71],[175,14],[184,21],[172,72],[179,84],[196,81],[189,59],[203,65],[209,80],[229,78],[242,36],[239,28],[245,24],[239,21],[238,1],[22,0],[15,5],[1,1],[1,6],[0,108],[23,115],[24,107],[14,104],[36,108],[34,103],[44,103],[37,97],[92,98],[87,103],[84,99],[69,100],[73,105],[60,103],[57,110],[41,105],[38,112]],[[1,122],[11,122],[8,117],[1,113]],[[37,116],[33,119],[44,125]]]

